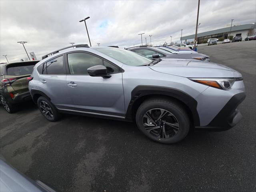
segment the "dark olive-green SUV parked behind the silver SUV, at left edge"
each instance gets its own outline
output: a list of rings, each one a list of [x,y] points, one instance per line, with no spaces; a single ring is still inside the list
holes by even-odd
[[[17,104],[30,100],[27,77],[39,61],[13,62],[0,65],[0,101],[8,113],[17,110]]]

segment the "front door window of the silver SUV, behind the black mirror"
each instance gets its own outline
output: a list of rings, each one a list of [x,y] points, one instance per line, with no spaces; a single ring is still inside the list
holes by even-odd
[[[68,54],[70,74],[87,75],[87,69],[96,65],[102,65],[102,59],[88,53]]]

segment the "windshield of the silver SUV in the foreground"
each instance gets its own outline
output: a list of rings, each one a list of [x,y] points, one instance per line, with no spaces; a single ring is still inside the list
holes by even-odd
[[[125,49],[112,47],[98,47],[94,49],[130,66],[141,66],[152,62],[149,58]]]

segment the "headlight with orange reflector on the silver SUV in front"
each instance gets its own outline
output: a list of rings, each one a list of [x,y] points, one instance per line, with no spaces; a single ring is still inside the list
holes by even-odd
[[[188,78],[197,83],[211,86],[218,89],[228,90],[235,81],[242,81],[243,78]]]

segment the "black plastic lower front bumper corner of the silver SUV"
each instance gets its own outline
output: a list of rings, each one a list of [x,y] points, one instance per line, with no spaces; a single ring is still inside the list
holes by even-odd
[[[224,131],[234,127],[242,119],[237,109],[245,99],[244,92],[234,95],[207,126],[196,126],[197,130]]]

